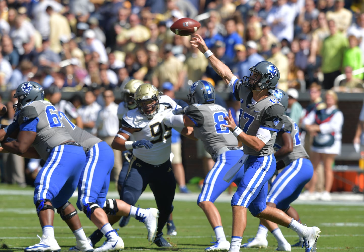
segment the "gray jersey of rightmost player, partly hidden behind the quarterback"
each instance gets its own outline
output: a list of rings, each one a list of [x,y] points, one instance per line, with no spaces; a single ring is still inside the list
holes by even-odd
[[[297,160],[300,157],[308,158],[308,154],[301,144],[300,131],[297,124],[286,115],[283,116],[283,119],[284,124],[277,135],[276,143],[274,144],[274,150],[278,151],[278,149],[280,149],[283,145],[282,133],[290,133],[293,140],[293,151],[277,159],[277,161],[282,160],[284,165],[287,166],[289,163],[292,163],[294,160]]]

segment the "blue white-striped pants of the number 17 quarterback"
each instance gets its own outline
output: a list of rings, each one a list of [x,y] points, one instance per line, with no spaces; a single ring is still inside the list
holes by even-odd
[[[273,154],[264,157],[249,156],[244,165],[245,173],[231,205],[244,206],[253,216],[257,216],[267,207],[268,180],[276,171],[276,158]]]

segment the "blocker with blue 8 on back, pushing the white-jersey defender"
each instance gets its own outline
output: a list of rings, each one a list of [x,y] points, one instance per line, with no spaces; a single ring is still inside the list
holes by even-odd
[[[227,111],[215,103],[215,88],[205,80],[193,83],[189,89],[190,107],[185,115],[174,115],[170,112],[163,122],[169,127],[193,126],[194,137],[201,139],[207,152],[213,157],[215,164],[203,181],[202,191],[197,204],[202,208],[216,235],[216,242],[205,251],[227,251],[230,248],[222,227],[220,213],[214,205],[217,197],[229,187],[223,180],[225,173],[243,156],[238,148],[236,137],[228,128],[224,117]],[[237,184],[244,175],[242,167],[233,178]]]

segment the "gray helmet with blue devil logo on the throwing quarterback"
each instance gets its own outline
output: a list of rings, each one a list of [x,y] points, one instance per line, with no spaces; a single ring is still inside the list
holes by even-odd
[[[261,61],[249,70],[250,76],[242,79],[242,85],[249,90],[274,89],[281,77],[277,66],[269,61]]]

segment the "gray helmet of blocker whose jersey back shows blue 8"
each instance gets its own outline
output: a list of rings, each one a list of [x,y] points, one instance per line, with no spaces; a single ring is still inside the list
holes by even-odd
[[[198,80],[191,85],[187,98],[190,104],[214,103],[215,88],[206,80]]]

